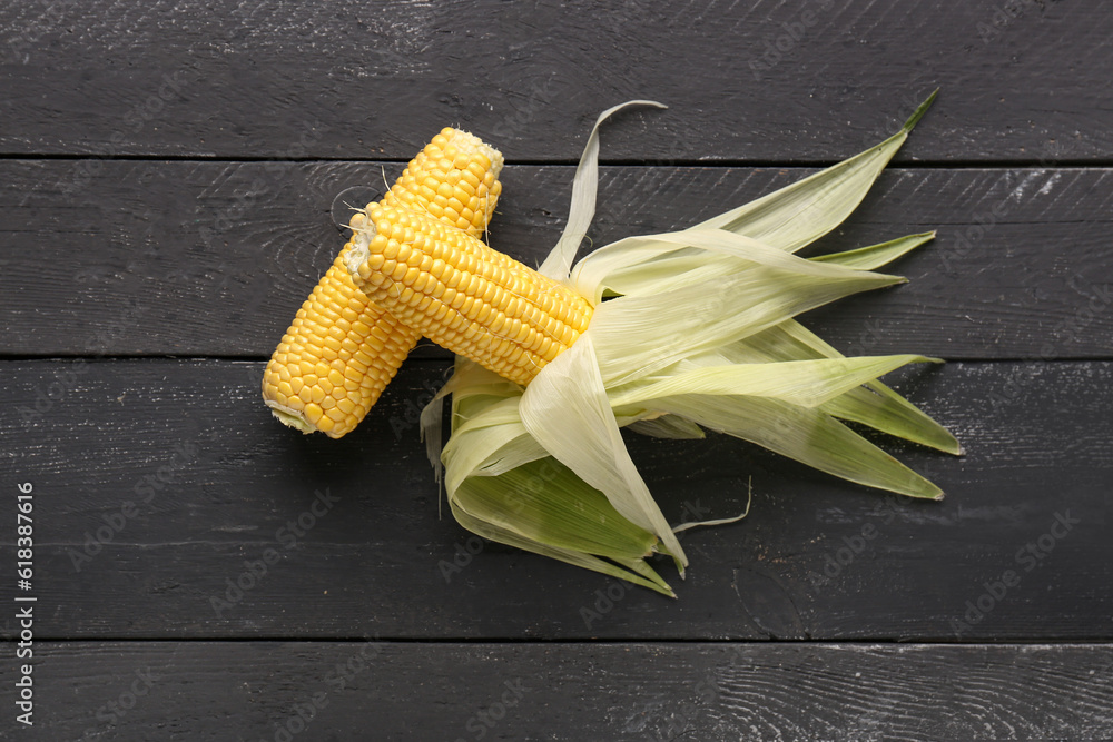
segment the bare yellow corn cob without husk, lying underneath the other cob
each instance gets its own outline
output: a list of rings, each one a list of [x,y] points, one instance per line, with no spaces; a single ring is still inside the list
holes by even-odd
[[[502,164],[477,137],[443,129],[381,202],[475,238],[494,215]],[[352,229],[364,229],[364,212],[353,217]],[[334,438],[359,424],[421,337],[356,288],[344,267],[351,248],[344,246],[302,305],[263,377],[263,397],[278,419]]]

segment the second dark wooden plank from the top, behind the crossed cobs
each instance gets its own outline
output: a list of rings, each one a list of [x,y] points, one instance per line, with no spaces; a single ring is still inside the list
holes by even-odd
[[[0,320],[16,355],[267,357],[342,240],[329,216],[372,197],[380,165],[0,162]],[[401,166],[390,166],[392,178]],[[811,170],[603,168],[590,237],[679,229]],[[894,264],[910,284],[808,321],[851,354],[1111,357],[1113,177],[1106,168],[896,169],[820,249],[938,228]],[[491,241],[540,263],[570,167],[511,167]],[[441,357],[446,357],[441,354]]]

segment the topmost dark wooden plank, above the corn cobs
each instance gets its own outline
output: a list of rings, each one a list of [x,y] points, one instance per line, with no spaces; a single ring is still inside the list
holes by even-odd
[[[571,161],[834,160],[939,110],[900,156],[1109,161],[1113,17],[1084,6],[6,3],[0,154],[408,159],[462,125]]]

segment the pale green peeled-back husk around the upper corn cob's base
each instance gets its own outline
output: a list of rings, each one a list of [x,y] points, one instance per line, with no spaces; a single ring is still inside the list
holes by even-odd
[[[683,576],[676,532],[692,524],[669,525],[627,452],[624,426],[664,438],[717,431],[858,484],[940,498],[843,423],[959,453],[954,436],[877,380],[938,359],[847,358],[794,319],[902,283],[876,269],[934,237],[795,255],[858,206],[933,99],[860,155],[689,229],[629,237],[573,265],[594,212],[599,127],[629,106],[662,106],[604,111],[577,169],[568,226],[540,268],[592,303],[590,327],[525,388],[457,358],[423,414],[456,520],[485,538],[673,595],[646,557],[667,554]],[[440,398],[449,393],[442,451]]]

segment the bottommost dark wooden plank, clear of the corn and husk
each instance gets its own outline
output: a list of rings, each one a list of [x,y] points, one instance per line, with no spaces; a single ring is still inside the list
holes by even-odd
[[[20,740],[1113,735],[1107,644],[36,645]],[[0,680],[16,681],[12,662]],[[940,712],[945,709],[945,712]],[[280,730],[285,731],[285,734]]]

